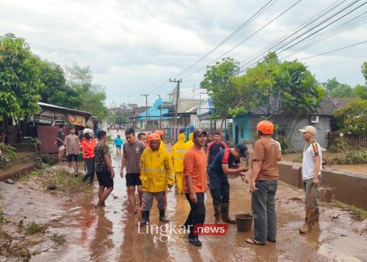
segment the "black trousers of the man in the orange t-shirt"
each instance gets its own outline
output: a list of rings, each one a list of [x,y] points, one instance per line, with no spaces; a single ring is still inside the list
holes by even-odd
[[[196,193],[197,202],[196,204],[190,200],[190,194],[185,194],[188,203],[190,204],[190,213],[187,216],[185,226],[189,226],[190,233],[189,237],[194,237],[193,229],[196,224],[204,224],[205,222],[205,202],[204,193]]]

